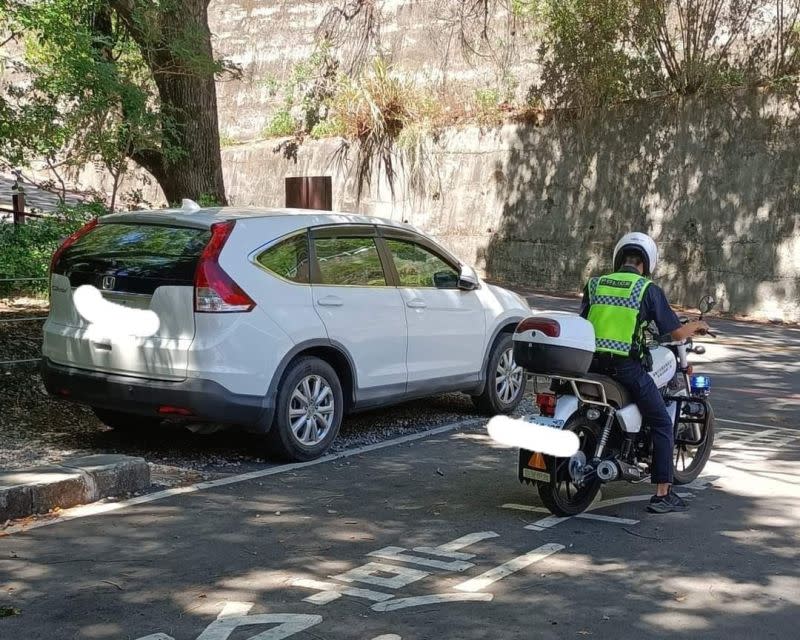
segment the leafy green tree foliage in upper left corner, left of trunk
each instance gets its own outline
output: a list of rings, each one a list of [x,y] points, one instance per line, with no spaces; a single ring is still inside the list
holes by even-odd
[[[30,87],[8,87],[0,160],[66,155],[119,169],[133,148],[159,143],[154,85],[140,50],[99,0],[11,3],[0,26],[20,33]]]

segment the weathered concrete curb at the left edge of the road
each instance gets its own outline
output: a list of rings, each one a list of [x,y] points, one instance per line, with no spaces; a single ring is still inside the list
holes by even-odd
[[[150,486],[144,458],[93,455],[0,473],[0,522],[66,509]]]

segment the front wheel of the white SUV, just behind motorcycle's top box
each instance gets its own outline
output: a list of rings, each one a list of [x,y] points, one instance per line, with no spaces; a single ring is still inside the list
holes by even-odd
[[[478,411],[487,416],[511,413],[525,395],[528,378],[522,367],[514,363],[514,343],[510,333],[497,338],[486,367],[483,393],[472,396]]]

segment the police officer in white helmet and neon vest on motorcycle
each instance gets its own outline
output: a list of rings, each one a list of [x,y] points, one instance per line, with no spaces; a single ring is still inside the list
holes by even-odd
[[[674,433],[672,420],[650,368],[645,329],[654,322],[661,335],[685,340],[708,330],[703,321],[682,325],[660,287],[649,279],[658,263],[658,248],[644,233],[629,233],[614,249],[614,273],[586,285],[581,316],[595,331],[592,371],[614,378],[632,394],[653,438],[651,481],[656,494],[647,509],[653,513],[686,510],[672,490]]]

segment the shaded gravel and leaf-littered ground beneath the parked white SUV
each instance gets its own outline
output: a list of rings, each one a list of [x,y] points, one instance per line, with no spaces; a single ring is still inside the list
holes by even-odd
[[[0,303],[0,320],[42,315],[40,303]],[[0,360],[36,358],[41,322],[0,322]],[[530,411],[530,402],[520,407]],[[345,419],[332,451],[480,418],[462,394],[447,394]],[[262,438],[235,430],[191,433],[165,425],[128,434],[100,423],[84,408],[50,398],[35,365],[0,366],[0,469],[19,469],[92,453],[142,456],[154,483],[169,486],[262,468],[271,460]]]

